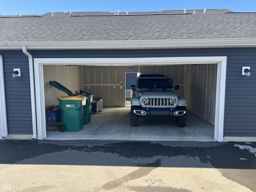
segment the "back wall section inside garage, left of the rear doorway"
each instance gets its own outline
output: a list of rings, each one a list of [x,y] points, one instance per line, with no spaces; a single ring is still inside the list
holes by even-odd
[[[104,107],[125,107],[125,72],[128,66],[83,66],[83,90]]]

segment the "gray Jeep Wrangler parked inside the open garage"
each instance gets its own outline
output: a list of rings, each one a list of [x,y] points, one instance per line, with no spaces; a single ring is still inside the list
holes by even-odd
[[[132,85],[131,126],[138,126],[138,118],[166,118],[176,120],[178,127],[186,125],[187,100],[177,96],[179,85],[164,75],[140,75]]]

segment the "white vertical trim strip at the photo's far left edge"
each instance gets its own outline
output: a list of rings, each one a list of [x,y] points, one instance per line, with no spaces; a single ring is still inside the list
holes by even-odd
[[[2,55],[0,55],[0,139],[8,136],[6,100],[4,88],[4,63]]]

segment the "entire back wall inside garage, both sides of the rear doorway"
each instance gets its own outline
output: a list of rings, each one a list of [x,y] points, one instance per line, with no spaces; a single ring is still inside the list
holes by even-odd
[[[83,66],[83,89],[102,98],[104,107],[125,107],[125,73],[163,74],[172,76],[174,84],[180,85],[178,95],[184,97],[184,65],[174,66]]]

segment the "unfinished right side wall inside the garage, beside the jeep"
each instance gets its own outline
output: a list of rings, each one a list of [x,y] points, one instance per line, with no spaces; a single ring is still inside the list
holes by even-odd
[[[187,109],[214,125],[217,64],[186,65]]]

